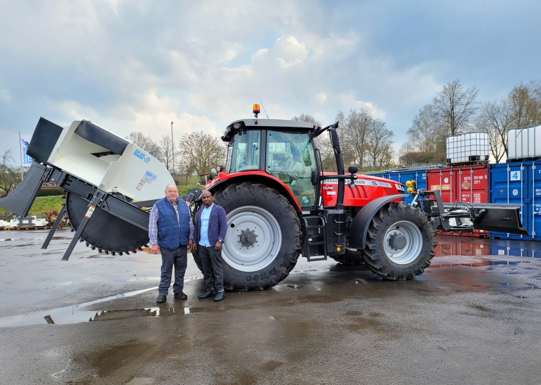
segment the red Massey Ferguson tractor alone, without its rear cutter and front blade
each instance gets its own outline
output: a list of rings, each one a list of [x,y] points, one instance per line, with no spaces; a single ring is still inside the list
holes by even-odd
[[[419,207],[404,203],[404,185],[357,166],[344,172],[334,125],[244,119],[222,136],[227,162],[205,186],[227,212],[224,284],[230,290],[269,288],[286,278],[302,254],[365,262],[382,278],[411,279],[434,256],[435,231]],[[322,172],[314,139],[328,132],[338,173]]]

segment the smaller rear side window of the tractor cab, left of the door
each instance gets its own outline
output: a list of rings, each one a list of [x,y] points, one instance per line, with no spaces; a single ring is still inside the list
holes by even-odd
[[[259,130],[240,131],[235,134],[233,147],[229,147],[227,163],[229,172],[259,169]]]

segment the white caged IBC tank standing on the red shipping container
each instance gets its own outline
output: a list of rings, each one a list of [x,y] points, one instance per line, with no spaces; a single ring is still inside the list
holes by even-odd
[[[447,164],[489,160],[489,134],[471,133],[447,138]]]

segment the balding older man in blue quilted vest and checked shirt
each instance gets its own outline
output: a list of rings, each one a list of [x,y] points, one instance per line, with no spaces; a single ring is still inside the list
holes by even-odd
[[[175,266],[175,298],[188,299],[184,289],[184,273],[188,264],[188,249],[192,249],[194,225],[190,216],[189,204],[179,200],[179,190],[175,185],[167,185],[166,197],[157,200],[150,211],[148,237],[153,254],[162,253],[162,276],[156,303],[165,302],[173,266]]]

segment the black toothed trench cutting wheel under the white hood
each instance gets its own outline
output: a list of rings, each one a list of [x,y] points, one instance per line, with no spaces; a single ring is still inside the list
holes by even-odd
[[[66,194],[65,206],[72,231],[78,229],[89,204],[89,200],[79,195],[69,192]],[[98,208],[84,228],[80,242],[106,254],[129,254],[146,246],[148,231]]]

